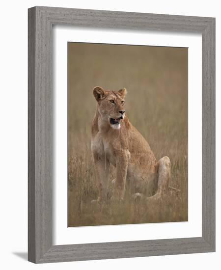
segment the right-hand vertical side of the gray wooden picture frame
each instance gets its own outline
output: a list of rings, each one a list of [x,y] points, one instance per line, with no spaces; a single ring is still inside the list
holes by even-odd
[[[202,236],[215,250],[215,20],[202,33]]]

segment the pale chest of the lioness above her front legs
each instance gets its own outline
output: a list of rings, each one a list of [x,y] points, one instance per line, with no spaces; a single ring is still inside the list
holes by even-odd
[[[91,144],[92,152],[95,152],[99,155],[101,159],[106,159],[111,162],[112,165],[115,166],[115,156],[114,156],[114,150],[111,145],[111,143],[102,137],[100,133],[98,133]]]

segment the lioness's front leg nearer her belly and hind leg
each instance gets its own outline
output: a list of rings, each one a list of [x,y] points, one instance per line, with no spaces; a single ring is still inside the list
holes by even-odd
[[[114,198],[123,200],[125,193],[127,167],[129,161],[128,151],[121,151],[116,159],[116,180],[114,183]]]

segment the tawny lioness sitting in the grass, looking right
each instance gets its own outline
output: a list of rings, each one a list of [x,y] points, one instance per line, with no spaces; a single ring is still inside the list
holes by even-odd
[[[147,141],[130,123],[124,108],[126,93],[125,88],[118,92],[99,86],[93,89],[97,109],[92,122],[91,150],[99,187],[98,198],[93,201],[107,199],[110,163],[116,167],[116,199],[124,198],[126,182],[130,183],[134,197],[145,194],[158,199],[168,189],[170,160],[164,157],[157,162]]]

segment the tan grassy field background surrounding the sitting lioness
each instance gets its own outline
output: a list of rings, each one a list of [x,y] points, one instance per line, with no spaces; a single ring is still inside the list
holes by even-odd
[[[126,87],[126,113],[156,158],[171,161],[169,191],[160,202],[92,205],[97,183],[90,151],[94,86]],[[68,226],[188,220],[188,50],[68,44]],[[111,180],[114,178],[111,167]]]

